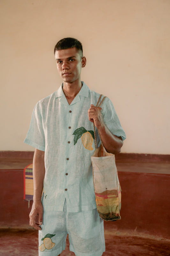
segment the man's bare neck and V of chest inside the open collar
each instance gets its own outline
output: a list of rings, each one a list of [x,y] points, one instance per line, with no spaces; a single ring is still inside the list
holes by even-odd
[[[73,99],[76,97],[76,95],[79,93],[79,91],[82,88],[81,81],[79,83],[66,83],[63,82],[63,93],[69,103],[73,101]]]

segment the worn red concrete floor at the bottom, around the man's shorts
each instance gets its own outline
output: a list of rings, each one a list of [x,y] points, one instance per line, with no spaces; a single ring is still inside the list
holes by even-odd
[[[1,256],[38,256],[38,232],[33,229],[1,229]],[[105,231],[106,252],[103,256],[169,256],[170,240],[151,237],[129,236],[119,232],[113,235]],[[66,249],[61,256],[74,256],[69,251],[67,237]],[[57,255],[56,255],[57,256]]]

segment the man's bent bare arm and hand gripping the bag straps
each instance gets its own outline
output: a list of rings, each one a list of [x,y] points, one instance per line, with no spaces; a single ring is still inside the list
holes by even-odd
[[[101,108],[91,105],[90,109],[88,110],[88,116],[89,120],[94,122],[95,127],[98,129],[107,152],[112,154],[120,153],[123,145],[122,137],[117,137],[109,131],[104,123]]]

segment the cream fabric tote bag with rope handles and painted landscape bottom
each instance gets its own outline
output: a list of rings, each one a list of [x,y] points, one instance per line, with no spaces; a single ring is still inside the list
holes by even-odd
[[[102,95],[100,95],[96,105],[98,107],[106,98],[103,97],[99,104],[101,96]],[[116,221],[121,219],[121,187],[115,164],[115,155],[106,151],[102,141],[99,148],[97,148],[95,126],[94,137],[96,150],[94,151],[91,160],[97,211],[101,219],[105,221]]]

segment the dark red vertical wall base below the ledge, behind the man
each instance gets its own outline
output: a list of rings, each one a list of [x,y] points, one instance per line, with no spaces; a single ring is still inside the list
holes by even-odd
[[[118,172],[122,187],[121,220],[109,229],[135,230],[170,238],[170,175]],[[23,200],[23,171],[1,170],[0,228],[29,227],[28,202]]]

